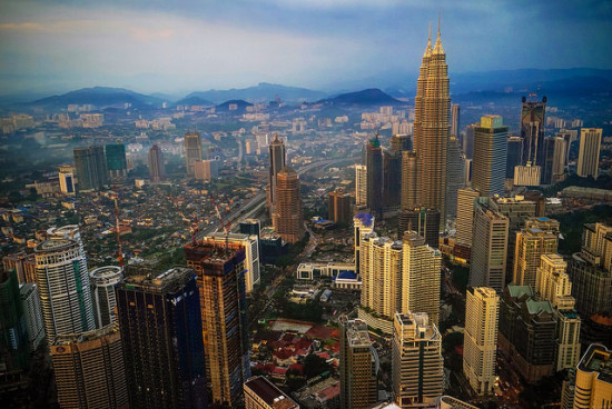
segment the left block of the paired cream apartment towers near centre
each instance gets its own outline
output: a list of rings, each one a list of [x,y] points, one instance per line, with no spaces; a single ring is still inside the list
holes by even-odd
[[[402,241],[377,237],[361,242],[362,306],[391,319],[402,302]]]

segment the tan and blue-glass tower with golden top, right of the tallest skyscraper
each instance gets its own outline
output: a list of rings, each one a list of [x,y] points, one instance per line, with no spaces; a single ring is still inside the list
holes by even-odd
[[[507,127],[500,116],[481,118],[474,133],[472,188],[482,196],[503,194],[506,168]]]

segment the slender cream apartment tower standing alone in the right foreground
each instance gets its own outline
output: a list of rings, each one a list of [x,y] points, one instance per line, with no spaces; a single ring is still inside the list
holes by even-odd
[[[491,395],[497,356],[500,296],[488,287],[471,287],[465,300],[463,373],[477,395]]]

